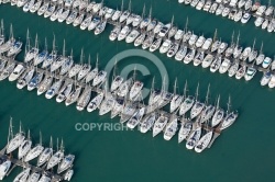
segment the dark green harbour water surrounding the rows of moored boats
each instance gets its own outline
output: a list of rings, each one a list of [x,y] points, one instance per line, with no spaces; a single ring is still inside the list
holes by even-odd
[[[106,0],[106,3],[113,8],[117,4],[120,7],[120,1],[117,0]],[[143,3],[146,3],[146,7],[152,4],[153,15],[163,22],[168,22],[174,14],[175,22],[180,27],[184,27],[185,20],[189,16],[189,27],[197,34],[212,36],[218,29],[218,35],[229,42],[232,32],[240,31],[240,42],[243,46],[252,45],[255,37],[256,47],[260,48],[263,41],[264,53],[273,56],[274,34],[256,29],[252,21],[242,25],[179,5],[176,0],[135,0],[132,2],[133,11],[142,12]],[[66,38],[67,52],[74,48],[76,60],[84,47],[86,57],[90,54],[95,66],[98,53],[101,69],[118,53],[134,48],[132,44],[124,42],[110,42],[110,25],[102,35],[95,36],[91,32],[80,31],[79,27],[65,23],[51,22],[9,4],[0,7],[0,18],[4,19],[7,36],[10,23],[13,24],[15,37],[25,39],[28,27],[32,37],[37,33],[40,45],[44,44],[46,36],[48,46],[52,47],[51,42],[55,34],[59,49]],[[54,138],[64,138],[66,153],[76,155],[75,175],[72,181],[273,181],[275,94],[274,90],[261,88],[258,81],[262,75],[257,73],[251,82],[238,81],[227,75],[210,73],[201,67],[184,65],[158,53],[154,55],[163,61],[168,71],[170,90],[177,77],[180,91],[185,80],[188,80],[190,93],[195,92],[199,82],[201,99],[206,96],[208,83],[211,83],[211,101],[215,101],[217,94],[221,94],[223,107],[228,95],[231,95],[233,109],[239,110],[240,117],[221,134],[211,149],[198,155],[188,151],[185,143],[178,145],[177,136],[165,141],[162,135],[153,138],[152,133],[144,135],[138,130],[77,132],[76,123],[118,123],[119,118],[110,120],[110,115],[99,117],[98,111],[78,112],[75,105],[66,107],[64,103],[57,104],[55,100],[46,100],[44,95],[37,96],[36,91],[18,90],[15,82],[7,80],[0,82],[0,147],[7,143],[9,118],[12,116],[14,130],[22,121],[24,129],[31,129],[35,141],[38,141],[38,130],[43,133],[44,145],[48,145],[51,135]],[[18,59],[22,57],[23,54],[19,55]],[[142,64],[147,67],[150,76],[139,75],[146,88],[151,87],[153,75],[156,76],[155,87],[161,87],[161,73],[151,61],[141,57],[129,57],[119,62],[118,69],[122,70],[129,64]],[[15,169],[4,181],[12,181],[20,170]]]

